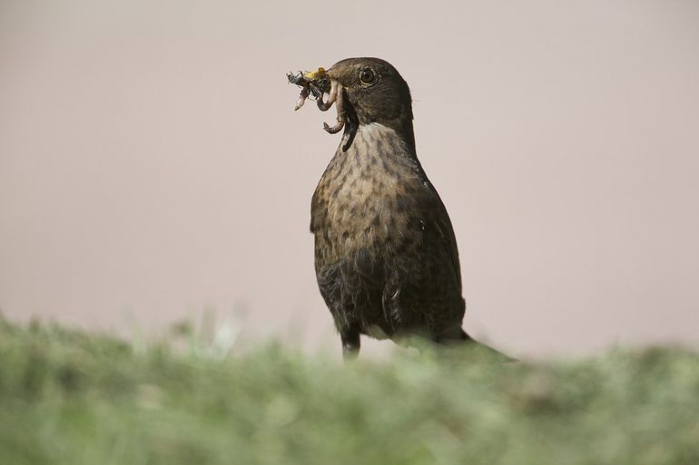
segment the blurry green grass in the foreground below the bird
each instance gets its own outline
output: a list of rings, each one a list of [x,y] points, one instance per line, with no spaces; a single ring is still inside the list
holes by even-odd
[[[696,464],[699,357],[223,359],[0,320],[0,462]]]

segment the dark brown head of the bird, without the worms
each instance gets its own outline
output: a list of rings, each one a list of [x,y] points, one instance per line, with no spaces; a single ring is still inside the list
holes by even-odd
[[[412,126],[408,83],[390,63],[379,58],[348,58],[327,71],[342,84],[344,111],[359,124],[376,122],[399,129]]]

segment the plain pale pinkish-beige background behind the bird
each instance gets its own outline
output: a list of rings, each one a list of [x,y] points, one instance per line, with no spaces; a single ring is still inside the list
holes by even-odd
[[[0,0],[0,308],[125,334],[210,308],[339,351],[308,228],[340,136],[284,74],[369,55],[411,86],[471,333],[697,344],[697,24],[693,0]]]

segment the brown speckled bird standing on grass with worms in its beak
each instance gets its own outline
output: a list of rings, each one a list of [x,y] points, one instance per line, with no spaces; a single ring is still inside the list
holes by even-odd
[[[457,240],[418,160],[408,83],[390,63],[369,57],[309,75],[331,84],[319,108],[337,103],[338,124],[326,131],[344,129],[310,206],[316,278],[343,356],[359,354],[362,334],[399,344],[413,336],[473,342],[462,328]]]

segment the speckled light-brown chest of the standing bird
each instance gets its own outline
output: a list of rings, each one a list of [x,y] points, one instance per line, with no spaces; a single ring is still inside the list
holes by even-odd
[[[404,158],[364,140],[338,151],[311,207],[311,230],[322,261],[334,262],[361,249],[381,253],[399,238],[410,237],[425,186]]]

